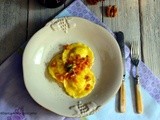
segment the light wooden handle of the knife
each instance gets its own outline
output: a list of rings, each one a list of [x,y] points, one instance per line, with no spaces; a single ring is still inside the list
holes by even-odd
[[[126,111],[126,89],[125,89],[125,81],[122,81],[120,87],[120,112],[124,113]]]

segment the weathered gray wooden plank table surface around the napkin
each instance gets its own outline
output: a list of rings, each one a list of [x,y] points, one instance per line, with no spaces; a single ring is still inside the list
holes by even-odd
[[[36,0],[1,0],[0,64],[72,1],[49,9]],[[142,61],[160,78],[160,0],[105,0],[97,5],[83,2],[111,30],[123,31],[126,44],[139,41]],[[117,17],[105,16],[108,5],[117,5]]]

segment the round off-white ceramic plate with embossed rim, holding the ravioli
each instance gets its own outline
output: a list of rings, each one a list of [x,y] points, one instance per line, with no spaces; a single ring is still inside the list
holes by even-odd
[[[62,45],[75,42],[85,43],[95,55],[92,70],[96,85],[91,94],[82,99],[66,95],[45,75],[46,64]],[[32,98],[44,108],[67,117],[87,116],[99,110],[118,91],[122,72],[116,40],[106,29],[78,17],[49,22],[33,35],[23,54],[24,82]]]

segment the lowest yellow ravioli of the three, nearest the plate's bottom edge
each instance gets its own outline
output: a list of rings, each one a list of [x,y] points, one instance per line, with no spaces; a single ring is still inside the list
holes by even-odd
[[[73,98],[87,96],[94,88],[95,76],[89,68],[83,70],[75,79],[64,80],[64,88]]]

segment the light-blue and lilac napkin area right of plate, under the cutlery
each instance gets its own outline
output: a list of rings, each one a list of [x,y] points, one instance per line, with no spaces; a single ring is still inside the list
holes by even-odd
[[[131,65],[130,51],[125,46],[126,64],[126,112],[119,113],[117,96],[112,98],[99,112],[88,116],[87,120],[159,120],[160,119],[160,80],[142,62],[139,63],[139,75],[144,112],[136,113],[134,79],[135,67]]]

